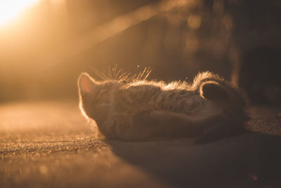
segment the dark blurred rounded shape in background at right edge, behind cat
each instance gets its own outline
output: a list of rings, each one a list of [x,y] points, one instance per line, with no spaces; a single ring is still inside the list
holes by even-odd
[[[261,46],[242,57],[239,85],[252,103],[281,106],[281,50]]]

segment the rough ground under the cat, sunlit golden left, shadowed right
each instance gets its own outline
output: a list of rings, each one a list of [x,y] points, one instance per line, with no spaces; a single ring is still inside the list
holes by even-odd
[[[77,102],[0,106],[0,187],[281,187],[281,110],[252,108],[249,134],[103,141]]]

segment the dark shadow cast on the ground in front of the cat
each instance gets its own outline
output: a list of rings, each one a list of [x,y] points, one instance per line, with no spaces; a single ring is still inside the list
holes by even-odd
[[[280,136],[244,134],[211,144],[190,140],[117,143],[112,151],[171,187],[280,187]]]

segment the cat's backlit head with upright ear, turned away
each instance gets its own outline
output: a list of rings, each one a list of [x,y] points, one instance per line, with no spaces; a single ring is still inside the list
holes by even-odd
[[[86,118],[103,121],[110,111],[114,92],[122,86],[117,80],[98,82],[89,74],[82,73],[78,80],[79,107]]]

